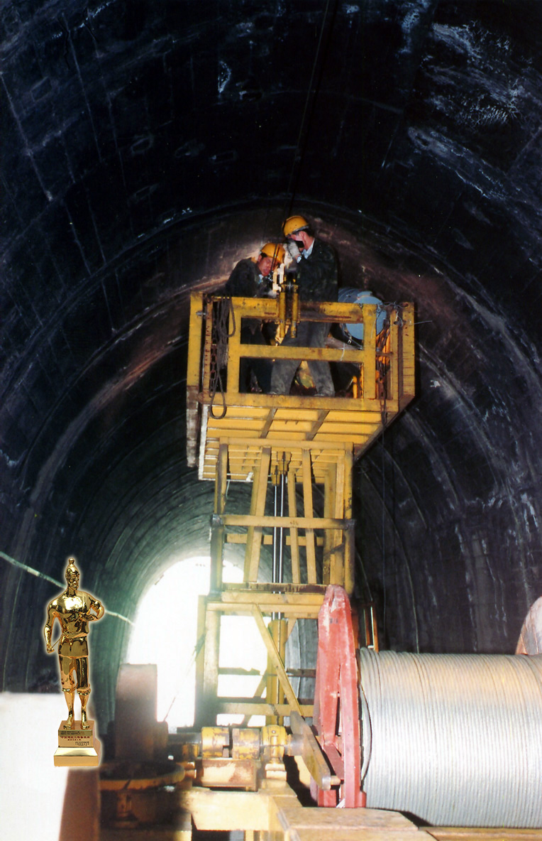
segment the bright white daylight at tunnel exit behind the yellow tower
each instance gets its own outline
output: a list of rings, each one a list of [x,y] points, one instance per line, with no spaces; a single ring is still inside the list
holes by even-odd
[[[197,601],[209,591],[210,558],[174,563],[139,602],[130,637],[128,662],[155,663],[158,669],[157,717],[170,732],[192,727],[195,711]],[[224,581],[239,583],[242,570],[224,563]],[[266,669],[266,648],[250,616],[223,616],[220,623],[220,667],[257,674],[221,674],[220,696],[253,696]],[[237,724],[243,716],[218,716],[219,724]],[[213,722],[209,722],[213,723]],[[250,724],[263,724],[252,717]]]

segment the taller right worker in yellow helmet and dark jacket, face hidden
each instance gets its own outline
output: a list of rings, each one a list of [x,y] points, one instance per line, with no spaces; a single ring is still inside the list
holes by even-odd
[[[336,301],[338,291],[339,265],[334,249],[313,235],[308,221],[303,216],[290,216],[282,226],[287,240],[287,250],[292,257],[292,266],[287,272],[295,271],[299,299],[302,301]],[[324,347],[329,333],[329,324],[318,321],[300,321],[297,335],[288,329],[282,346]],[[282,359],[276,362],[271,373],[271,394],[289,394],[292,380],[299,362],[296,359]],[[316,394],[333,397],[334,384],[329,362],[308,361]]]

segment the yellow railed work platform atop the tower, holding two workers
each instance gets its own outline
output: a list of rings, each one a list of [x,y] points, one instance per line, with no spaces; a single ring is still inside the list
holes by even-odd
[[[224,304],[224,302],[226,302]],[[366,451],[414,396],[413,304],[387,308],[376,334],[376,304],[301,303],[299,321],[363,324],[363,346],[330,337],[326,347],[247,345],[246,320],[281,325],[278,299],[224,299],[192,294],[187,368],[187,459],[199,478],[214,480],[220,442],[229,447],[229,479],[251,481],[262,447],[273,460],[287,458],[299,478],[303,451],[311,452],[313,478],[323,482],[345,442],[354,459]],[[225,315],[224,315],[225,313]],[[334,397],[253,394],[239,390],[243,357],[318,360],[348,366],[348,387]]]

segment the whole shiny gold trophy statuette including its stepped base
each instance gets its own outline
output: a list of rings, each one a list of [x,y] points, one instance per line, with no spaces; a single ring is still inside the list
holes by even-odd
[[[87,719],[87,701],[90,695],[88,682],[88,623],[101,619],[103,605],[90,593],[79,590],[79,570],[76,559],[68,558],[66,590],[57,595],[47,607],[45,646],[47,653],[55,651],[50,643],[55,619],[61,624],[58,659],[61,667],[61,685],[68,706],[68,717],[58,731],[58,750],[55,765],[97,765],[100,761],[100,743],[94,737],[94,722]],[[55,643],[56,644],[56,643]],[[73,703],[81,700],[81,719],[74,720]]]

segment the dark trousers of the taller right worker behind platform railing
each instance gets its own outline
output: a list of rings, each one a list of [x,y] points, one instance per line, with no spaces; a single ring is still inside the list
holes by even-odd
[[[284,347],[324,347],[329,324],[314,321],[301,321],[297,325],[297,336],[294,338],[290,330],[282,341]],[[290,394],[292,379],[299,368],[297,359],[282,359],[275,362],[271,373],[271,392],[274,394]],[[335,393],[329,362],[308,361],[308,370],[313,378],[316,393],[323,397],[333,397]]]

